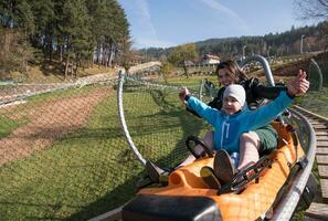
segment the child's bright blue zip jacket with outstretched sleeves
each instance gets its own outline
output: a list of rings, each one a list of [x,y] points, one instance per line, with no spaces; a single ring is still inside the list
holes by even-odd
[[[267,106],[261,106],[255,110],[244,108],[233,115],[211,108],[192,96],[188,99],[188,106],[214,127],[214,149],[225,149],[232,154],[240,151],[240,136],[243,133],[267,125],[292,102],[293,98],[287,95],[287,92],[281,92],[279,96]]]

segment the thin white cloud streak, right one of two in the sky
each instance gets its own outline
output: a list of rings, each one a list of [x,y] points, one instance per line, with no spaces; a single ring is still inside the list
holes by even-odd
[[[201,0],[201,1],[205,3],[208,7],[212,8],[213,10],[216,10],[221,13],[226,14],[229,19],[231,19],[231,22],[235,23],[240,29],[243,29],[247,33],[252,33],[251,28],[246,24],[246,22],[231,9],[224,7],[223,4],[219,3],[215,0]]]

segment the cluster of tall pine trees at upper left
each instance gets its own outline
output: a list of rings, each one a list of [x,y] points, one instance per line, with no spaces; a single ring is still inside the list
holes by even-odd
[[[0,24],[2,75],[41,60],[57,61],[66,77],[94,63],[124,63],[130,48],[117,0],[1,0]]]

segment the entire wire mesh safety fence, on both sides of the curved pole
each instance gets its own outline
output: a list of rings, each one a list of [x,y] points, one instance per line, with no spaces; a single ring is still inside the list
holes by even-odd
[[[326,57],[316,62],[322,88],[313,86],[298,103],[327,116],[328,63]],[[317,74],[309,67],[311,84]],[[126,80],[125,117],[146,159],[173,167],[188,155],[187,136],[202,137],[210,129],[178,98],[181,86],[199,96],[204,77],[216,82],[215,76],[181,76],[160,87],[160,75]],[[124,137],[116,90],[109,78],[0,85],[0,220],[86,220],[136,193],[146,172]],[[203,93],[207,101],[210,93]]]

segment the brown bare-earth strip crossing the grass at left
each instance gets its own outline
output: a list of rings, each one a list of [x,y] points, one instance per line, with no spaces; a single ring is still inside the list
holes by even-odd
[[[49,147],[54,140],[86,124],[94,107],[109,95],[108,88],[46,102],[25,110],[29,123],[0,139],[0,166]]]

